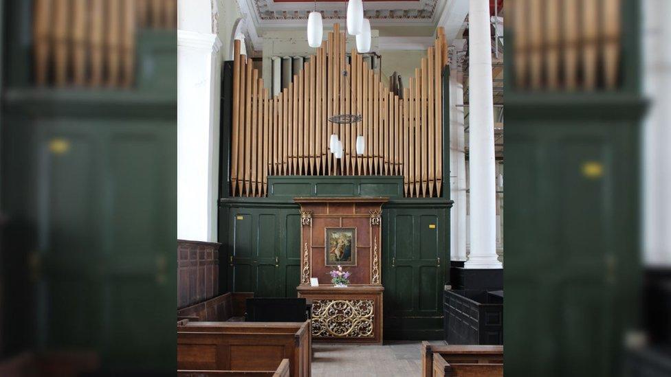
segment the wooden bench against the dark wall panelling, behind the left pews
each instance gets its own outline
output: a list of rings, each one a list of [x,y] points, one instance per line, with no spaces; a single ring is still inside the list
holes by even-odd
[[[177,321],[243,321],[245,300],[254,293],[228,292],[177,310]]]

